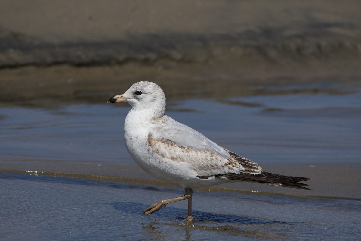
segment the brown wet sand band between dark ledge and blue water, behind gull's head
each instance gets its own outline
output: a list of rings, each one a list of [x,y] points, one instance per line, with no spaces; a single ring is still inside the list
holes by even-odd
[[[224,98],[275,94],[343,94],[361,87],[357,71],[326,69],[284,69],[283,66],[253,63],[164,64],[139,63],[97,67],[58,65],[0,70],[0,105],[54,107],[61,104],[103,103],[140,80],[156,82],[167,99]],[[330,68],[330,69],[329,69]],[[269,87],[296,86],[270,89]],[[297,87],[299,86],[299,87]],[[306,87],[303,87],[306,86]],[[24,101],[26,100],[26,101]]]

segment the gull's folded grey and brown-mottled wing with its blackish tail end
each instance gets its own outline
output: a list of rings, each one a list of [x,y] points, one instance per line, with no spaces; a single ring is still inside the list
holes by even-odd
[[[196,130],[163,116],[148,135],[149,147],[161,158],[187,163],[201,179],[226,178],[273,186],[308,189],[309,178],[264,172],[251,160],[218,146]],[[308,189],[309,190],[309,189]]]

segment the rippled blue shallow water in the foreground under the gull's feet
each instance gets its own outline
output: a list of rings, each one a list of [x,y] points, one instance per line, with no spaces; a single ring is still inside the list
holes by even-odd
[[[361,201],[196,191],[148,218],[141,211],[183,190],[0,173],[1,240],[359,240]]]

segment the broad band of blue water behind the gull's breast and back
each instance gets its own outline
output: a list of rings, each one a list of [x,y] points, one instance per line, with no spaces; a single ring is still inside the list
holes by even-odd
[[[105,102],[0,108],[0,158],[132,162],[123,142],[129,109]],[[361,160],[360,92],[170,101],[166,113],[251,160]]]

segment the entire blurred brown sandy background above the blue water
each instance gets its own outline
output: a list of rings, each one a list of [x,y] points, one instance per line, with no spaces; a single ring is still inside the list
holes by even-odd
[[[94,103],[139,80],[168,98],[359,85],[359,1],[0,3],[2,105]]]

